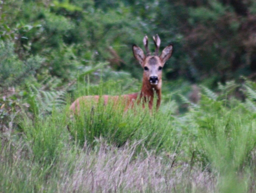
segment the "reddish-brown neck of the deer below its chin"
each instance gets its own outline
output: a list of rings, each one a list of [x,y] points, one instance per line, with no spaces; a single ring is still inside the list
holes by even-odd
[[[154,95],[157,97],[156,107],[159,108],[161,104],[161,86],[161,79],[157,85],[151,85],[147,78],[143,78],[140,99],[143,98],[144,102],[148,102],[149,109],[153,107]]]

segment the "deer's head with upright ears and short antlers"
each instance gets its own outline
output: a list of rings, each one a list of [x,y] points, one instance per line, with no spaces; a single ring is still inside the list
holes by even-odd
[[[165,47],[161,55],[158,55],[161,40],[158,35],[153,37],[156,46],[155,53],[151,55],[148,49],[148,37],[145,36],[143,39],[143,44],[146,49],[146,55],[143,50],[137,45],[133,45],[133,55],[137,59],[144,69],[143,81],[148,81],[148,83],[155,89],[161,89],[162,86],[162,69],[167,60],[172,56],[173,45]]]

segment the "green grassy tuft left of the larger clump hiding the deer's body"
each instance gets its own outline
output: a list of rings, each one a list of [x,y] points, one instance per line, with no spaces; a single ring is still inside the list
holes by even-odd
[[[60,111],[53,109],[52,116],[36,117],[35,122],[25,119],[21,125],[26,135],[25,140],[30,143],[36,162],[43,166],[51,166],[56,162],[64,146],[66,130],[66,116],[58,116]],[[64,132],[65,133],[65,132]]]

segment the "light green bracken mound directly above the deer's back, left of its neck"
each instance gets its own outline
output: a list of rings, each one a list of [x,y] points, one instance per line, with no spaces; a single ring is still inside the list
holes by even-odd
[[[138,92],[141,82],[124,71],[113,71],[107,63],[88,66],[78,74],[78,84],[74,85],[75,98],[81,95],[119,95]],[[118,91],[118,92],[117,92]]]

